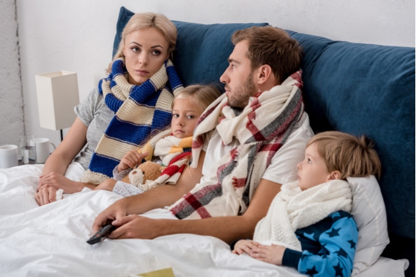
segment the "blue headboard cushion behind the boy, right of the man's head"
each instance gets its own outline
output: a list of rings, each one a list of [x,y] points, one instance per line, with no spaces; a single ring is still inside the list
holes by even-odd
[[[374,141],[389,231],[415,238],[415,48],[289,33],[304,48],[311,127],[366,134]]]

